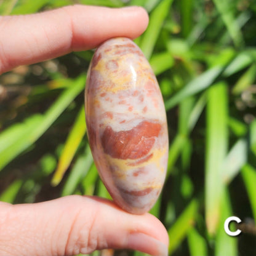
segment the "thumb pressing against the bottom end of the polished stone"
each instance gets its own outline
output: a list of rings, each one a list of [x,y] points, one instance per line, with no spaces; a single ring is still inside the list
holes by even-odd
[[[106,199],[0,204],[0,255],[76,255],[106,248],[167,255],[168,240],[153,215],[129,214]]]

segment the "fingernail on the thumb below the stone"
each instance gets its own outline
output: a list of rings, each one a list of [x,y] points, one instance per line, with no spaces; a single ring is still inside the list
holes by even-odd
[[[168,248],[164,243],[143,233],[129,234],[128,247],[146,254],[168,256]]]

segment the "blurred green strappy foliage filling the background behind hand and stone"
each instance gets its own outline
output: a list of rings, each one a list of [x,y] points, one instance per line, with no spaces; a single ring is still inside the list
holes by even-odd
[[[168,230],[169,254],[255,255],[256,2],[0,0],[0,14],[74,3],[135,4],[150,14],[135,42],[157,75],[169,123],[166,183],[151,210]],[[2,201],[110,198],[85,135],[83,90],[92,54],[71,53],[0,76]],[[243,221],[238,238],[223,229],[231,215]]]

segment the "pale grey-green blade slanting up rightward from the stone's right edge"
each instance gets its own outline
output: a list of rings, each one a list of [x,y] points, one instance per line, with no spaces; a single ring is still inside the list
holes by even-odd
[[[201,92],[201,90],[204,90],[207,87],[209,87],[214,82],[214,80],[220,75],[222,70],[222,67],[215,66],[214,68],[211,68],[210,70],[207,70],[206,72],[202,73],[200,76],[194,78],[179,92],[177,92],[177,94],[175,94],[172,98],[166,100],[166,110],[170,110],[175,105],[180,103],[184,98],[197,94],[198,92]]]

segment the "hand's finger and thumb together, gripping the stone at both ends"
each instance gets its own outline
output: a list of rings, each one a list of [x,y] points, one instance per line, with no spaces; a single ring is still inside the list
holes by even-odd
[[[148,15],[140,7],[68,6],[0,17],[0,74],[73,50],[92,49],[116,36],[134,39],[147,25]],[[167,255],[168,241],[166,229],[153,215],[132,215],[97,197],[0,202],[0,255],[74,255],[105,248]]]

